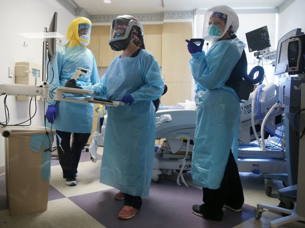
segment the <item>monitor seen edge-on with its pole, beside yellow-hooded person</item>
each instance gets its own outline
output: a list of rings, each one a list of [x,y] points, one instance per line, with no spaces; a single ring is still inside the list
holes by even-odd
[[[57,27],[57,12],[54,12],[51,19],[49,30],[45,28],[45,37],[43,40],[43,56],[42,56],[42,81],[46,81],[46,58],[48,50],[48,58],[50,64],[52,64],[55,52],[56,52],[56,27]]]

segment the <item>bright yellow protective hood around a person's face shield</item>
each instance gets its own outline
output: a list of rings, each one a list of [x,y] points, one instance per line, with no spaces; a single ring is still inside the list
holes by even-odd
[[[78,25],[79,24],[89,24],[91,26],[91,21],[88,18],[79,17],[70,22],[68,29],[67,29],[67,34],[66,34],[66,38],[67,38],[67,40],[69,40],[68,47],[82,46],[79,43],[79,41],[82,41],[78,35]],[[90,41],[89,41],[89,43],[90,43]]]

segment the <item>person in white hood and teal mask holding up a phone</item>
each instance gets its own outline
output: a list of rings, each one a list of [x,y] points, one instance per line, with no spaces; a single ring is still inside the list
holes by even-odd
[[[189,61],[197,86],[197,119],[192,155],[192,179],[203,187],[203,204],[194,214],[220,221],[222,208],[242,210],[242,185],[237,168],[240,102],[234,85],[247,74],[245,44],[235,33],[238,16],[226,5],[206,10],[203,39],[212,41],[205,53],[203,43],[189,40]]]

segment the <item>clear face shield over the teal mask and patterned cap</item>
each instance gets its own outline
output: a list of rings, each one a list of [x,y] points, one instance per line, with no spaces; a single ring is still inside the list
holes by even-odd
[[[232,18],[225,13],[207,11],[204,15],[203,39],[207,41],[220,40],[230,28]]]

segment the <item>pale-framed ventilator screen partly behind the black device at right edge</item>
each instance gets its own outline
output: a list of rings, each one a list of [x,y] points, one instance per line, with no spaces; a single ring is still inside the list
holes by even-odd
[[[303,32],[301,32],[301,29],[293,29],[278,40],[278,48],[276,52],[276,59],[274,66],[274,75],[279,75],[288,72],[287,51],[288,51],[289,38],[301,34],[304,34]]]

